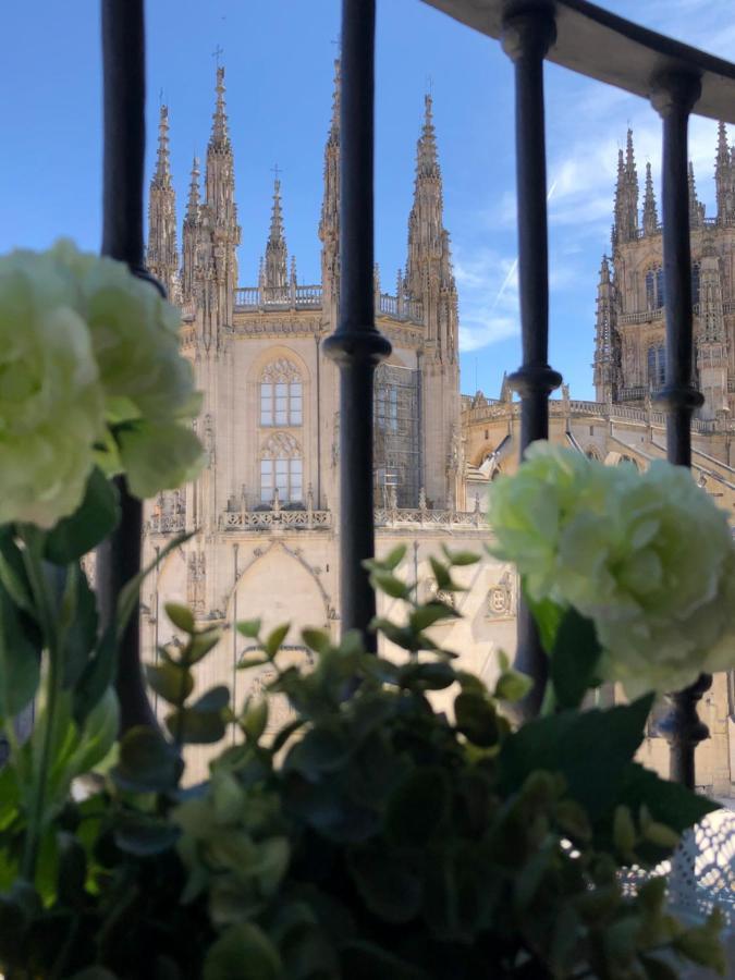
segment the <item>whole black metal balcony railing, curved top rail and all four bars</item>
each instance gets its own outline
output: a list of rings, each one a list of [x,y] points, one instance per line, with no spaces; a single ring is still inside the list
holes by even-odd
[[[663,248],[666,304],[667,454],[690,462],[690,420],[701,396],[691,385],[691,296],[686,177],[690,112],[735,122],[735,65],[632,24],[585,0],[425,0],[475,29],[502,39],[515,65],[519,293],[523,365],[522,449],[548,436],[548,399],[561,382],[548,365],[548,235],[543,61],[650,99],[663,119]],[[343,0],[339,323],[324,351],[340,366],[341,610],[344,629],[368,623],[375,599],[363,560],[373,552],[372,378],[390,353],[375,327],[372,166],[375,0]],[[143,0],[102,0],[105,76],[105,234],[102,250],[143,266]],[[123,518],[98,555],[100,604],[111,615],[123,583],[138,571],[140,505],[120,485]],[[119,694],[124,725],[151,719],[140,675],[137,617],[123,646]],[[520,610],[518,665],[538,709],[546,661],[528,612]],[[707,736],[696,703],[709,678],[672,695],[664,727],[672,774],[694,782],[694,751]]]

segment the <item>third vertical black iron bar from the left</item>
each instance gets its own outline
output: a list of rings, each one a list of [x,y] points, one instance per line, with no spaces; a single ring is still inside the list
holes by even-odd
[[[518,196],[518,294],[523,365],[509,378],[522,399],[520,453],[549,436],[549,395],[562,376],[549,367],[549,257],[543,58],[555,39],[553,10],[538,2],[503,21],[503,50],[515,65],[516,184]],[[547,656],[525,601],[518,603],[515,666],[534,681],[518,706],[538,714],[547,683]]]

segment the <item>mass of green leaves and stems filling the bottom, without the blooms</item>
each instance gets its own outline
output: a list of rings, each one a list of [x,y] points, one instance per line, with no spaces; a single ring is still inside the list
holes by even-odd
[[[237,624],[256,647],[238,666],[267,665],[267,695],[291,705],[273,731],[268,697],[231,706],[226,688],[197,690],[219,632],[169,605],[183,642],[146,665],[163,727],[113,747],[119,625],[100,636],[86,580],[71,565],[49,575],[38,544],[28,565],[0,539],[7,711],[39,684],[16,651],[38,664],[46,639],[62,637],[53,711],[0,771],[0,969],[28,980],[658,980],[686,963],[723,968],[716,916],[678,922],[661,879],[636,896],[623,889],[622,867],[654,867],[713,805],[633,761],[650,698],[580,710],[599,658],[586,621],[546,610],[553,698],[514,730],[505,707],[528,678],[503,654],[491,689],[460,669],[433,629],[457,613],[419,602],[397,548],[369,572],[397,610],[373,628],[405,653],[307,629],[315,664],[299,671],[281,649],[287,625],[264,635],[259,620]],[[460,591],[474,561],[444,549],[437,589]],[[34,612],[44,581],[56,633]],[[184,746],[225,736],[210,779],[183,788]],[[95,788],[73,799],[71,781],[89,773]]]

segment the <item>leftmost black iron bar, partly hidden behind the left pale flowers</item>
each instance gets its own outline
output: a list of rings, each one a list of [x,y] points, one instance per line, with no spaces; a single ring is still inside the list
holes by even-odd
[[[145,34],[143,0],[102,0],[105,162],[102,254],[155,280],[143,262],[143,167],[145,152]],[[158,285],[158,283],[156,283]],[[158,286],[160,289],[160,285]],[[143,504],[117,479],[121,519],[97,550],[96,581],[102,624],[114,616],[118,597],[140,569]],[[155,724],[140,669],[136,604],[120,648],[117,678],[121,728]]]

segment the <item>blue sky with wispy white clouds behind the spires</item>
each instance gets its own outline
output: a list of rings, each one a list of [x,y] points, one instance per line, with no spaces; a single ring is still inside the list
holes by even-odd
[[[735,49],[732,0],[607,0],[609,9],[725,58]],[[339,0],[148,0],[148,161],[159,91],[170,107],[183,216],[192,156],[204,155],[216,46],[243,226],[240,279],[255,283],[268,232],[272,168],[282,171],[289,249],[299,280],[319,272],[317,224]],[[101,93],[98,4],[0,4],[0,252],[45,247],[64,234],[99,245]],[[462,388],[497,395],[519,364],[512,66],[497,42],[420,0],[379,0],[376,254],[384,291],[405,262],[406,220],[422,96],[431,86],[444,177],[445,223],[460,290]],[[646,102],[547,69],[551,238],[551,363],[573,396],[592,395],[595,296],[609,247],[617,147],[634,127],[639,176],[658,189],[660,127]],[[734,134],[735,135],[735,134]],[[713,209],[715,124],[694,120],[698,191]]]

